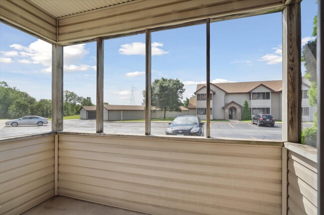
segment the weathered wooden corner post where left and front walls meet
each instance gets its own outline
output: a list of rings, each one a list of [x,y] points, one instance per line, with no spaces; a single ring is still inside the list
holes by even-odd
[[[52,131],[63,131],[63,46],[52,45]]]

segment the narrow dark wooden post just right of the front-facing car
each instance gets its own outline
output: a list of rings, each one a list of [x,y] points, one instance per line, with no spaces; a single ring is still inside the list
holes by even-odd
[[[206,138],[210,138],[210,19],[206,21]]]

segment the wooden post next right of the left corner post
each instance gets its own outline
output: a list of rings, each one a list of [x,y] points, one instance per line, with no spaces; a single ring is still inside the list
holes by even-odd
[[[104,132],[104,40],[97,38],[97,133]]]

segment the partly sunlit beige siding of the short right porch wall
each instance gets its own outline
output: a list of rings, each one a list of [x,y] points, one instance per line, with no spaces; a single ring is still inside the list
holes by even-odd
[[[316,162],[288,151],[289,215],[317,215],[317,178]]]

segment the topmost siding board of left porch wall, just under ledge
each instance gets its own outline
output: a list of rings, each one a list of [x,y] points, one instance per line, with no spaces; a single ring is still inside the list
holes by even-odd
[[[28,139],[28,140],[24,140],[24,141],[2,143],[2,144],[0,144],[0,151],[10,150],[10,149],[14,149],[14,148],[20,148],[20,147],[24,147],[24,146],[36,145],[39,143],[48,143],[48,142],[54,142],[54,136],[46,136],[43,138],[34,138],[34,139]]]

